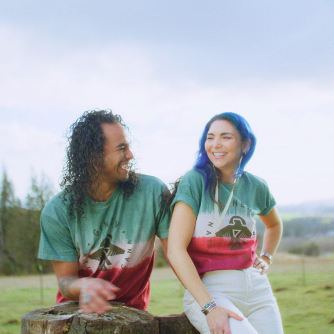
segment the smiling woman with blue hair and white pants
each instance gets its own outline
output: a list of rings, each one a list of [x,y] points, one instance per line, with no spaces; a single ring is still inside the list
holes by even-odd
[[[283,333],[265,275],[282,220],[267,183],[244,172],[255,144],[242,116],[214,116],[172,202],[168,257],[187,289],[184,312],[201,333]],[[260,256],[254,215],[265,224]]]

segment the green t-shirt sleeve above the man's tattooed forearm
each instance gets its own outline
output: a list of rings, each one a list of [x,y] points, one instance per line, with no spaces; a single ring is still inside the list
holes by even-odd
[[[66,222],[60,222],[43,212],[38,257],[53,261],[78,261],[78,252]]]

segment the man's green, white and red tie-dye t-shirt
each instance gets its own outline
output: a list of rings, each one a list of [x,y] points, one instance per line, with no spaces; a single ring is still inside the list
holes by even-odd
[[[170,214],[161,207],[165,184],[140,175],[133,194],[119,190],[106,202],[87,198],[84,215],[69,215],[61,192],[41,215],[39,258],[79,261],[79,276],[94,276],[120,288],[117,301],[146,310],[150,299],[155,237],[168,237]],[[67,301],[58,291],[57,303]]]

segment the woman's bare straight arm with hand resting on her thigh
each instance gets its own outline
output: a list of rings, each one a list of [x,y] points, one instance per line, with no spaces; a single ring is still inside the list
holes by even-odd
[[[168,258],[183,286],[188,289],[200,307],[212,300],[212,296],[203,285],[195,265],[187,252],[196,223],[196,216],[187,204],[176,203],[168,237]],[[211,332],[230,333],[228,318],[243,320],[235,312],[218,306],[207,315]]]

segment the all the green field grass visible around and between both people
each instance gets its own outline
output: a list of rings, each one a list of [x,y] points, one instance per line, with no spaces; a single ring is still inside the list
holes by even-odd
[[[334,271],[301,274],[269,273],[279,304],[285,334],[334,332]],[[305,285],[304,285],[305,282]],[[183,287],[176,280],[152,281],[153,314],[182,313]],[[39,289],[10,290],[0,287],[0,333],[20,333],[23,314],[54,304],[55,289],[44,289],[41,304]]]

